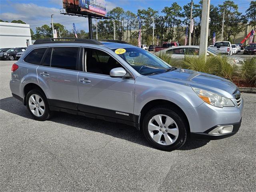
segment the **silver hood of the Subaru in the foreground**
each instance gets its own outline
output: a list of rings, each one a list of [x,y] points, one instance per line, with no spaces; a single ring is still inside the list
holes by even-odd
[[[186,69],[178,68],[174,71],[152,75],[149,77],[166,82],[202,88],[228,98],[233,98],[232,94],[237,90],[237,86],[229,80],[215,75]]]

